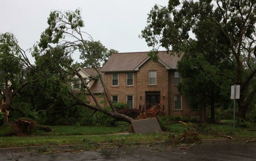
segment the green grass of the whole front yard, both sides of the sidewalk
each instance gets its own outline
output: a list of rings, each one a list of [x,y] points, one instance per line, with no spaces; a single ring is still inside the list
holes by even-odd
[[[235,128],[235,135],[232,135],[232,121],[222,120],[222,124],[207,124],[219,134],[232,136],[233,138],[246,137],[255,138],[255,131],[246,131],[250,128]],[[128,134],[128,135],[104,135],[114,134],[129,131],[128,126],[117,127],[96,127],[96,126],[50,126],[54,132],[38,131],[37,136],[24,137],[1,137],[0,148],[4,147],[21,147],[21,146],[39,146],[39,145],[68,145],[68,144],[82,144],[83,140],[86,142],[95,143],[119,143],[122,142],[142,142],[142,141],[164,141],[168,139],[168,134]],[[174,135],[183,133],[187,127],[181,123],[167,125],[167,131]],[[1,132],[1,129],[0,129]],[[97,135],[94,135],[97,134]],[[38,136],[41,135],[41,136]],[[201,135],[202,139],[223,138]]]

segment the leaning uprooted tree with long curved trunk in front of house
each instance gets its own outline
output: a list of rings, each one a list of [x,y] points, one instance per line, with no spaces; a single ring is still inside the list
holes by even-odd
[[[75,12],[56,10],[50,13],[48,18],[49,27],[42,33],[40,42],[34,46],[32,52],[37,66],[39,82],[49,82],[60,86],[59,91],[51,92],[57,92],[58,96],[70,101],[70,106],[85,106],[95,111],[103,112],[118,120],[131,123],[133,118],[119,114],[109,97],[99,71],[99,66],[102,62],[104,63],[104,60],[97,59],[97,56],[94,55],[94,51],[97,51],[96,48],[99,47],[99,43],[94,41],[89,34],[81,31],[84,27],[84,21],[80,13],[80,9],[77,9]],[[86,64],[90,63],[88,66],[93,67],[97,72],[95,79],[98,79],[103,85],[104,93],[112,109],[111,112],[101,107],[97,97],[91,92],[88,81],[83,79],[82,75],[73,67],[73,54],[80,54],[80,58],[84,59]],[[73,88],[73,84],[76,81],[74,79],[75,75],[80,78],[83,84],[79,90]],[[50,91],[51,89],[45,86],[44,90]],[[85,92],[89,92],[95,105],[86,102]]]

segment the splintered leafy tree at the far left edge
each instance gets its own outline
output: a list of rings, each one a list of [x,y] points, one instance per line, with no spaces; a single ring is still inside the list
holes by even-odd
[[[14,35],[0,33],[0,112],[5,115],[0,125],[8,121],[8,112],[14,97],[29,83],[37,81],[28,76],[29,69],[33,68]]]

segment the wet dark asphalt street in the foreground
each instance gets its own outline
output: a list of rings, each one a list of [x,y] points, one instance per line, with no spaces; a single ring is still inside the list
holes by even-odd
[[[37,154],[35,151],[1,152],[0,160],[256,160],[256,144],[227,142],[204,143],[186,146],[133,146],[122,148],[103,148],[97,151],[79,153]]]

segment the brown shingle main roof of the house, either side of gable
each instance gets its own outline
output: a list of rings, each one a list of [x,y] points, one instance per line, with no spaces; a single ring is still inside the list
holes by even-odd
[[[148,58],[148,52],[113,53],[102,68],[102,72],[133,71]],[[166,51],[158,52],[159,59],[171,69],[177,69],[181,57],[170,55]]]

